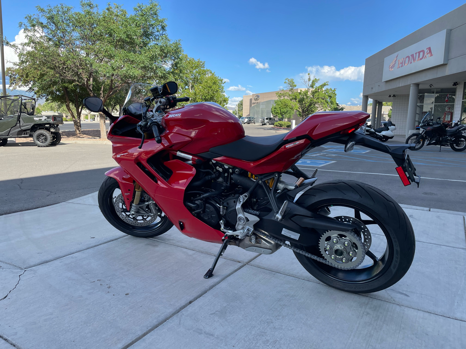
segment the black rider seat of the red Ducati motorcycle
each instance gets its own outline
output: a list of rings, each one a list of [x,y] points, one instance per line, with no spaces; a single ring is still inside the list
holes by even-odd
[[[265,137],[244,136],[238,141],[210,148],[209,153],[244,161],[256,161],[272,154],[286,143],[283,141],[286,135],[287,133]]]

